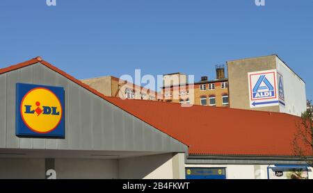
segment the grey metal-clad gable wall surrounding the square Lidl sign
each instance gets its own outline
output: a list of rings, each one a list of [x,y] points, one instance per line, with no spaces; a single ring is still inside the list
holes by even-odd
[[[65,88],[65,139],[15,136],[15,84]],[[37,63],[0,74],[0,148],[184,152],[186,145]]]

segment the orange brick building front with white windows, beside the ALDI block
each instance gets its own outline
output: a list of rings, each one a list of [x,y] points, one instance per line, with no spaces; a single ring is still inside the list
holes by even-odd
[[[202,76],[200,81],[189,84],[186,75],[182,73],[166,74],[163,79],[166,80],[162,87],[163,101],[201,106],[229,106],[228,79],[225,77],[224,65],[216,66],[214,80]],[[179,84],[173,84],[175,81]]]

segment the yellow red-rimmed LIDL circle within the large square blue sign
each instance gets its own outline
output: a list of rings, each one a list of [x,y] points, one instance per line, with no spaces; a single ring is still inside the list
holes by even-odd
[[[62,119],[62,105],[51,90],[36,87],[27,92],[21,102],[24,123],[35,133],[53,131]]]

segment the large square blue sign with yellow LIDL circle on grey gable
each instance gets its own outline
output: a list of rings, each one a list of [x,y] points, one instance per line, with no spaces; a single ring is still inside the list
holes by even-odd
[[[64,137],[64,89],[17,83],[17,136]]]

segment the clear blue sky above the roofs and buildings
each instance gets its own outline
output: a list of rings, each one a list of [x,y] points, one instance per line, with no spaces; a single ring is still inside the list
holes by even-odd
[[[278,53],[313,99],[313,1],[0,1],[0,68],[42,56],[76,78],[183,72]]]

